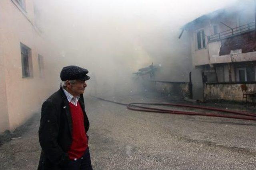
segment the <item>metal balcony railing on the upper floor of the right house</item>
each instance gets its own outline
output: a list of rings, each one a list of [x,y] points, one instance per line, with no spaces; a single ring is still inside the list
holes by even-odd
[[[229,37],[232,37],[234,35],[239,35],[239,34],[242,34],[242,33],[246,33],[248,31],[252,31],[254,29],[255,29],[255,22],[248,23],[248,24],[245,24],[245,25],[241,25],[239,27],[229,29],[227,31],[223,31],[223,32],[220,32],[220,33],[217,33],[217,34],[214,34],[214,35],[210,35],[208,37],[208,42],[218,41],[220,39],[229,38]]]

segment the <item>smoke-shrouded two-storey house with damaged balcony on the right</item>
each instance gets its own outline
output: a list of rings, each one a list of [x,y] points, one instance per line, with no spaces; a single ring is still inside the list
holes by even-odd
[[[240,100],[242,90],[233,90],[234,84],[239,86],[256,82],[254,6],[254,1],[244,0],[201,16],[184,26],[190,34],[193,67],[202,72],[206,99]],[[209,82],[214,82],[214,88],[223,95],[210,93],[209,86],[206,86]],[[222,82],[230,84],[225,84],[225,87],[216,85]],[[250,87],[248,85],[250,91],[254,90]],[[236,94],[224,95],[227,90],[230,94]],[[237,97],[234,98],[234,95]]]

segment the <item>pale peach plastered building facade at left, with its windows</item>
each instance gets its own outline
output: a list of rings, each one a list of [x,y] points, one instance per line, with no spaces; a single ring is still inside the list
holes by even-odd
[[[14,130],[50,93],[49,50],[35,25],[33,0],[0,1],[0,133]]]

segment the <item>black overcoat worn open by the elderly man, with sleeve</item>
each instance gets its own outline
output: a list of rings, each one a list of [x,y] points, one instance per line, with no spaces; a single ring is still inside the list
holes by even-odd
[[[84,112],[84,128],[87,132],[89,121],[84,110],[83,95],[80,95],[79,103]],[[72,117],[62,88],[42,105],[39,142],[42,152],[38,170],[61,170],[68,164],[70,159],[67,152],[72,143]]]

